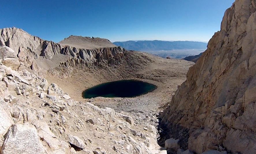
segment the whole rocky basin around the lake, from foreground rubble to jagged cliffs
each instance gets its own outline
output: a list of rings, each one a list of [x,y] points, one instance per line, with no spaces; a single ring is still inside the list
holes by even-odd
[[[122,47],[77,49],[18,28],[0,31],[1,153],[167,153],[156,142],[158,107],[192,62]],[[81,98],[89,87],[122,79],[158,88],[134,98]]]

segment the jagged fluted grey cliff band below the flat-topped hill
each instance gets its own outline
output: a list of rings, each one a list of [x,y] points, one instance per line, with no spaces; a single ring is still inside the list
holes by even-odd
[[[12,48],[15,53],[12,55],[18,56],[19,61],[22,62],[25,67],[30,67],[34,71],[58,67],[60,63],[66,66],[72,65],[72,67],[80,63],[90,63],[92,65],[98,65],[98,63],[116,64],[121,62],[124,55],[127,53],[124,48],[116,47],[106,39],[103,39],[104,42],[109,42],[112,46],[106,44],[106,46],[103,45],[100,46],[100,48],[88,49],[42,40],[39,37],[32,36],[22,29],[15,27],[0,29],[0,31],[0,46]],[[99,40],[99,38],[94,38],[94,40]],[[10,59],[15,57],[6,58],[9,58],[6,59],[8,60],[6,63],[10,63],[11,60],[16,60]],[[15,66],[19,64],[18,61],[14,62]],[[3,61],[3,63],[5,63],[5,61]]]

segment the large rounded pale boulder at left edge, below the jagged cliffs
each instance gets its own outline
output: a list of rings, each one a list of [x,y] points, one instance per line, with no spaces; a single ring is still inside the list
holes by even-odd
[[[2,58],[2,63],[5,66],[11,67],[13,70],[17,70],[20,66],[20,61],[15,54],[14,50],[8,46],[3,46],[0,48],[0,55]]]

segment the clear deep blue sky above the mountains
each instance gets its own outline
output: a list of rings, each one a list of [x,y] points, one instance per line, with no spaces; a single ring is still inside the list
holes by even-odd
[[[0,28],[59,42],[70,35],[110,41],[208,41],[234,0],[3,0]]]

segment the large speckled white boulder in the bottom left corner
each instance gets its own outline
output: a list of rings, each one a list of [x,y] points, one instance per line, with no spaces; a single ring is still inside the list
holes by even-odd
[[[15,124],[5,135],[3,154],[46,154],[37,130],[29,124]]]

